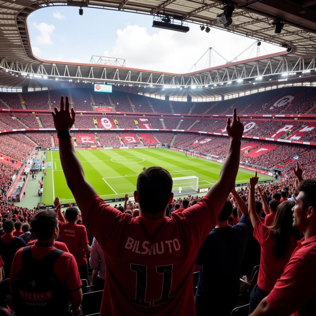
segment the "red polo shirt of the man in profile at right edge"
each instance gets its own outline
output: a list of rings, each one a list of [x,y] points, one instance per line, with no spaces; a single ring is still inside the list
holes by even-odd
[[[316,236],[298,241],[284,273],[268,295],[270,306],[280,315],[316,314]]]

